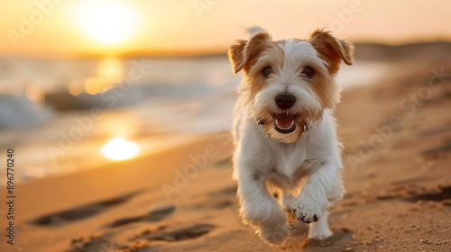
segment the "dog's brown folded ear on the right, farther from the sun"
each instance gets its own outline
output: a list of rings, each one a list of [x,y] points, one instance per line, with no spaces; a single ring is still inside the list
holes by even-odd
[[[346,40],[336,39],[329,31],[313,31],[308,42],[318,51],[319,57],[326,60],[332,75],[338,72],[342,60],[346,65],[354,63],[354,45]]]

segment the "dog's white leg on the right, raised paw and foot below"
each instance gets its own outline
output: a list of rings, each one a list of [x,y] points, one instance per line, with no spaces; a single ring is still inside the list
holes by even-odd
[[[332,235],[327,226],[327,209],[331,202],[342,198],[343,193],[341,175],[334,166],[321,166],[308,176],[292,209],[298,220],[312,223],[308,238],[327,238]]]

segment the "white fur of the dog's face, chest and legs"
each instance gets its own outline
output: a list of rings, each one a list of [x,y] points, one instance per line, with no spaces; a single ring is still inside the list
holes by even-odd
[[[327,209],[345,193],[341,179],[341,144],[336,139],[333,111],[322,107],[308,80],[299,78],[299,67],[305,65],[316,66],[320,74],[327,75],[327,63],[307,41],[286,40],[280,46],[285,56],[283,64],[274,69],[267,86],[255,95],[253,103],[244,103],[249,97],[240,94],[233,126],[234,178],[239,185],[240,213],[246,223],[272,244],[281,244],[289,235],[287,213],[283,208],[292,211],[296,218],[312,223],[308,238],[331,236]],[[268,60],[276,59],[262,54],[255,66]],[[335,85],[333,76],[327,81]],[[244,80],[242,85],[248,84]],[[320,120],[309,121],[309,129],[299,139],[291,136],[293,133],[281,134],[276,130],[270,137],[262,130],[262,125],[255,122],[254,115],[268,110],[279,112],[274,97],[281,93],[296,96],[297,102],[290,111],[308,108],[321,114]],[[279,142],[275,140],[278,137],[290,141]],[[270,187],[281,191],[281,203],[268,191]],[[318,221],[314,220],[315,215]]]

